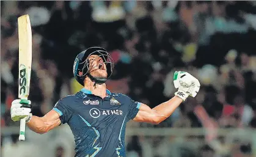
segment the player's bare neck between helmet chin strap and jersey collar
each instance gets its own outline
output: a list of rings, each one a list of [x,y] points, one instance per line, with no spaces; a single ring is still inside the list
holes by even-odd
[[[97,95],[101,98],[106,97],[106,84],[95,84],[95,82],[87,77],[84,81],[84,88],[90,90],[93,95]]]

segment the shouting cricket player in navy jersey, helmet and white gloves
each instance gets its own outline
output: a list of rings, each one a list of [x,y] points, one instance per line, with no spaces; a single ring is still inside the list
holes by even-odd
[[[114,69],[114,61],[104,48],[91,47],[76,56],[75,79],[84,88],[61,98],[43,117],[31,114],[31,101],[14,100],[13,121],[26,117],[26,125],[35,133],[47,133],[67,123],[75,139],[75,157],[125,157],[125,128],[129,120],[159,124],[188,98],[196,97],[199,81],[184,71],[175,71],[175,96],[151,109],[122,93],[112,93],[105,82]]]

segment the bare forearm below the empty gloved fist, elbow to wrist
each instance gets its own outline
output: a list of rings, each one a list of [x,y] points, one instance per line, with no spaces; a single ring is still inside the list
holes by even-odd
[[[181,98],[174,96],[169,101],[161,103],[155,108],[153,108],[152,110],[155,111],[158,115],[158,123],[163,122],[167,119],[167,117],[170,117],[170,115],[172,115],[175,109],[177,109],[178,106],[180,106],[182,101],[183,100]]]

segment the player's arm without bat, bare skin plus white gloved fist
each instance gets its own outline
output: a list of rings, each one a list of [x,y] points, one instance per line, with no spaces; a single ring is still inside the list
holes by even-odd
[[[200,89],[200,83],[194,76],[184,71],[175,71],[174,86],[178,89],[175,96],[169,101],[159,104],[151,109],[146,104],[139,106],[139,111],[134,117],[135,122],[159,124],[166,120],[178,106],[189,96],[196,97]]]

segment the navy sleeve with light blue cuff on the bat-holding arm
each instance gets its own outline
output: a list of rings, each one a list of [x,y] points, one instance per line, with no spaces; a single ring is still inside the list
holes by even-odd
[[[68,108],[67,102],[65,102],[64,100],[57,101],[53,110],[60,115],[60,121],[62,124],[67,123],[68,119],[70,119],[71,111]]]

